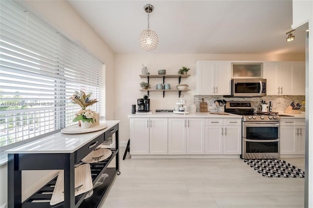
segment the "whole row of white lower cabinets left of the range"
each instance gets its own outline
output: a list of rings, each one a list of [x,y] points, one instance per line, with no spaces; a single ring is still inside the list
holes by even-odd
[[[240,155],[241,119],[131,118],[131,155]]]

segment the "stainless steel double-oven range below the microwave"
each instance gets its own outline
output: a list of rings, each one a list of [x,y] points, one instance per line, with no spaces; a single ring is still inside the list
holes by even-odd
[[[225,112],[243,115],[242,158],[277,159],[280,157],[280,117],[253,112],[252,102],[229,101]]]

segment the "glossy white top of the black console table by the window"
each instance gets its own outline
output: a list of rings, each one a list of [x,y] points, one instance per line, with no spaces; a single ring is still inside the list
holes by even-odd
[[[17,146],[5,151],[5,153],[72,153],[89,141],[106,132],[119,121],[103,121],[107,128],[83,134],[56,133],[33,142]],[[100,145],[100,144],[99,144]]]

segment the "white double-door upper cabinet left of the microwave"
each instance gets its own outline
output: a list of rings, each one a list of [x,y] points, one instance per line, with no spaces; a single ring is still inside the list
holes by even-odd
[[[230,95],[230,66],[231,62],[197,62],[196,94]]]

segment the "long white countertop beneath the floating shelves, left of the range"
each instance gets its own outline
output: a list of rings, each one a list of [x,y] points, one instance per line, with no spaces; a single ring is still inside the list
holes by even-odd
[[[178,114],[178,113],[156,113],[152,114],[130,114],[128,118],[242,118],[243,116],[228,113],[228,115],[219,115],[211,113],[188,113],[188,114]]]

